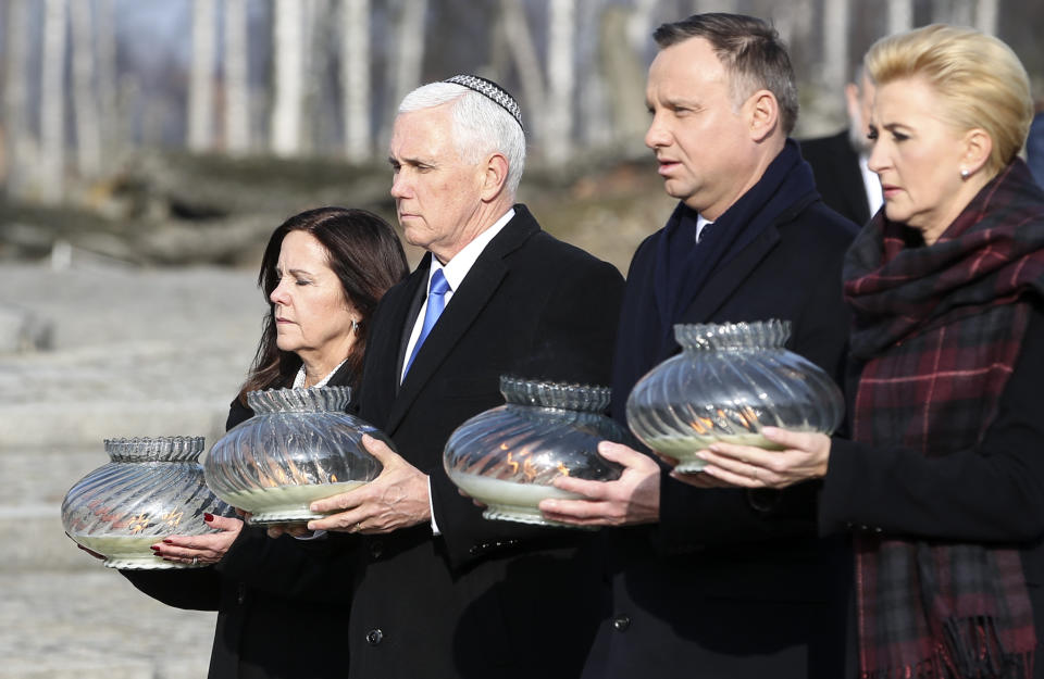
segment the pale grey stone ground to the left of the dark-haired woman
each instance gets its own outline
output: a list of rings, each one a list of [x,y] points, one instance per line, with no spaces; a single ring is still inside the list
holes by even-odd
[[[4,263],[0,307],[52,329],[50,350],[0,353],[0,679],[204,677],[214,614],[139,593],[59,508],[105,437],[220,435],[264,311],[254,273]]]

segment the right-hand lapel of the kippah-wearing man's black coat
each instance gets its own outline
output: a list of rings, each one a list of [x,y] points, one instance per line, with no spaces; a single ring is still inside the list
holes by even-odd
[[[460,288],[453,291],[438,323],[418,351],[391,405],[386,425],[388,433],[399,426],[417,398],[433,382],[436,372],[453,347],[493,300],[500,281],[510,269],[504,257],[539,230],[536,221],[523,205],[515,205],[514,211],[514,217],[486,246]],[[424,271],[427,271],[426,267]],[[423,279],[426,280],[426,277]],[[408,323],[409,319],[403,317],[399,325],[403,335],[409,332],[406,327]],[[401,362],[397,366],[401,366]]]

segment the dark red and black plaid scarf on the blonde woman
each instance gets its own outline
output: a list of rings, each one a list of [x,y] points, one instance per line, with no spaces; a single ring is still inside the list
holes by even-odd
[[[920,247],[918,247],[920,246]],[[884,217],[845,259],[854,439],[930,457],[975,447],[1044,291],[1044,192],[1016,160],[931,247]],[[858,537],[860,677],[1024,679],[1036,644],[1017,549]]]

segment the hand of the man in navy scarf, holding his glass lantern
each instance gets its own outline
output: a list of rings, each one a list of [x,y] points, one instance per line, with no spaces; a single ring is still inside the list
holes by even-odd
[[[575,526],[631,526],[660,520],[660,466],[635,450],[602,441],[598,453],[623,465],[616,481],[586,481],[568,476],[555,479],[555,487],[583,495],[585,500],[543,500],[540,512],[548,519]]]

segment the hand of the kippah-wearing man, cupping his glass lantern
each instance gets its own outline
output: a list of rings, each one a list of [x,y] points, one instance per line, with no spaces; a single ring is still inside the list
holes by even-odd
[[[381,476],[355,490],[313,502],[312,512],[344,511],[310,520],[308,529],[382,533],[430,521],[427,475],[383,441],[364,435],[362,444],[384,465]]]

